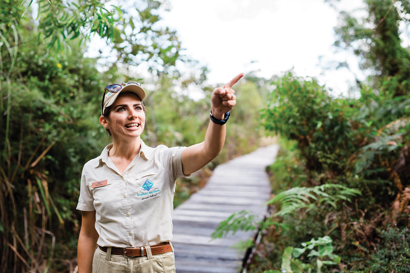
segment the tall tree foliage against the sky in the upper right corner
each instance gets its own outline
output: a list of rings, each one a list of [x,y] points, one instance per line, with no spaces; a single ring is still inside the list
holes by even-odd
[[[374,75],[374,87],[394,97],[409,94],[410,53],[401,46],[400,24],[408,23],[407,0],[366,0],[367,18],[342,13],[338,47],[352,50],[361,68]]]

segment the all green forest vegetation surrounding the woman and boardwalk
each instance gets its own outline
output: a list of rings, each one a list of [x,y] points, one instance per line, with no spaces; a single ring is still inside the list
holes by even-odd
[[[95,0],[38,3],[38,12],[30,1],[0,3],[0,272],[73,271],[82,165],[108,143],[96,122],[102,86],[144,85],[143,139],[152,146],[203,141],[214,88],[204,83],[207,68],[184,56],[177,33],[157,27],[163,2],[136,1],[134,13]],[[399,26],[407,29],[410,3],[365,4],[363,18],[342,13],[335,29],[335,46],[356,54],[370,75],[355,94],[335,98],[291,72],[249,73],[235,88],[223,153],[178,181],[175,206],[217,164],[259,147],[265,132],[280,134],[282,149],[269,167],[271,216],[238,214],[219,229],[261,228],[252,272],[409,271],[410,53]],[[118,56],[105,60],[104,72],[98,59],[84,58],[91,34]],[[141,63],[151,77],[135,74]],[[192,99],[184,91],[190,85],[207,98]]]

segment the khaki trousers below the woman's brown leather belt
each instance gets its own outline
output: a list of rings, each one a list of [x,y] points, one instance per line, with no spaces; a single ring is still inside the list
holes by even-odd
[[[171,248],[174,250],[172,244]],[[175,273],[174,251],[156,255],[151,254],[151,249],[146,252],[148,256],[125,258],[111,254],[111,247],[107,248],[107,253],[97,247],[93,273]]]

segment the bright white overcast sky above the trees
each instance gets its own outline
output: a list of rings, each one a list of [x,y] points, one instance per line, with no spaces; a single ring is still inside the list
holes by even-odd
[[[355,63],[353,56],[335,54],[333,28],[339,12],[324,0],[170,2],[163,23],[177,30],[188,56],[208,66],[209,83],[224,83],[253,70],[269,78],[292,68],[298,76],[317,77],[334,95],[346,93],[354,83],[346,69],[323,74],[321,66],[329,61]],[[360,2],[341,0],[338,8],[352,10]],[[355,65],[352,68],[360,77]]]

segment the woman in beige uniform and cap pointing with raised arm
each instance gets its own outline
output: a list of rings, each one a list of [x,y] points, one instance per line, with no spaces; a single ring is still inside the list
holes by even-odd
[[[214,89],[205,141],[190,147],[146,146],[140,138],[145,90],[132,82],[105,88],[100,123],[113,143],[82,170],[79,273],[175,271],[170,242],[175,180],[221,152],[224,124],[236,104],[232,86],[243,75]]]

